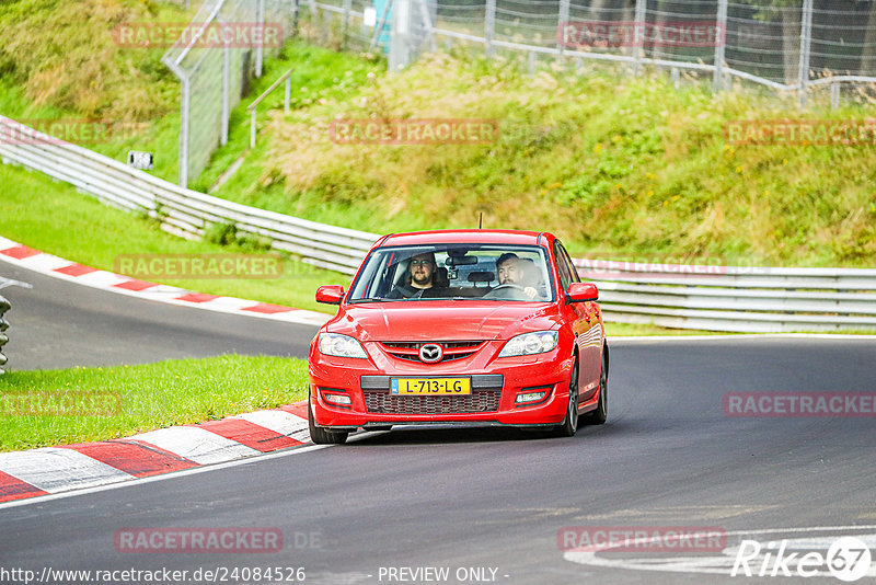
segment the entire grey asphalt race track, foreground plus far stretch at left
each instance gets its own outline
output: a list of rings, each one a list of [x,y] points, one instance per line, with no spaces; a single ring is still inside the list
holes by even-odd
[[[10,365],[19,368],[232,349],[301,355],[312,335],[258,319],[205,319],[194,309],[2,268],[34,285],[4,291],[16,328]],[[42,345],[27,348],[31,342]],[[41,362],[44,354],[50,359]],[[37,575],[45,567],[189,575],[303,567],[307,583],[326,584],[438,582],[402,581],[411,573],[397,571],[391,580],[393,567],[449,567],[447,583],[764,583],[776,578],[731,578],[727,552],[587,558],[564,554],[557,532],[719,527],[730,550],[744,537],[816,547],[856,534],[876,546],[876,420],[738,418],[722,410],[727,392],[876,393],[876,342],[618,342],[611,362],[609,422],[574,438],[505,429],[370,433],[345,446],[24,501],[0,506],[0,565]],[[285,544],[275,553],[118,552],[116,531],[136,527],[276,528]],[[485,570],[470,571],[479,567]],[[840,583],[827,573],[805,582]]]

